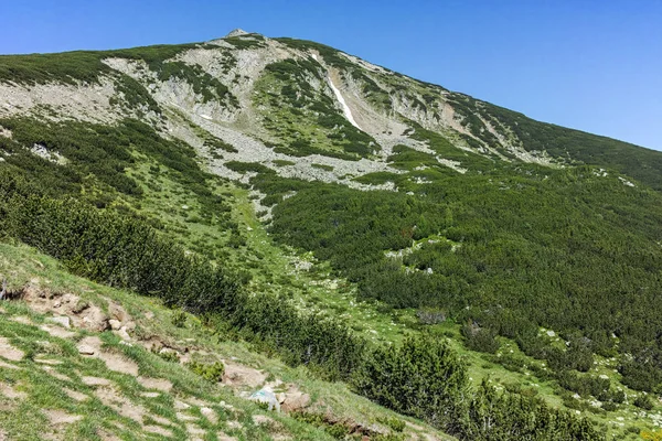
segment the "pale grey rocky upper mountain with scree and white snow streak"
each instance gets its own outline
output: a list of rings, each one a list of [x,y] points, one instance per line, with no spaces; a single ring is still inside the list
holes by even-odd
[[[398,173],[386,159],[407,146],[458,173],[494,161],[587,163],[659,185],[654,152],[540,123],[312,42],[238,32],[202,44],[1,61],[0,116],[135,117],[209,157],[209,138],[221,139],[234,149],[210,158],[211,166],[231,178],[238,175],[226,162],[259,162],[287,178],[361,186],[349,176]]]

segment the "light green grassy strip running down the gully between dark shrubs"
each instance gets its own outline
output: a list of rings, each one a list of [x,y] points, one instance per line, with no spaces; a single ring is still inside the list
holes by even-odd
[[[148,164],[143,164],[140,170],[146,171],[148,169]],[[412,170],[410,173],[419,172]],[[402,175],[395,176],[402,178]],[[175,207],[180,203],[191,201],[191,198],[185,192],[178,189],[174,182],[169,183],[166,178],[160,179],[163,181],[159,182],[159,186],[164,194],[153,202],[150,202],[148,194],[142,201],[142,213],[148,209],[154,216],[168,213],[167,216],[162,217],[171,226],[167,229],[172,228],[185,246],[193,247],[196,240],[206,238],[209,240],[207,246],[215,244],[214,246],[222,249],[224,241],[227,240],[226,235],[214,229],[213,226],[195,222],[186,223],[186,216],[178,211],[170,209],[170,206],[163,205],[164,202],[168,202],[172,204],[172,207]],[[141,180],[138,180],[138,182],[141,182]],[[554,406],[564,406],[559,387],[555,380],[541,379],[536,377],[535,372],[531,368],[524,368],[520,372],[509,369],[505,367],[508,364],[503,364],[499,357],[467,349],[460,335],[460,324],[445,322],[438,325],[424,326],[419,324],[416,311],[413,309],[393,310],[380,302],[357,302],[356,287],[343,279],[335,278],[329,263],[317,261],[311,254],[301,254],[273,241],[264,225],[255,215],[248,190],[237,187],[232,183],[223,183],[215,192],[229,195],[226,197],[228,197],[232,205],[231,219],[237,224],[241,234],[246,238],[246,245],[232,250],[228,259],[250,273],[249,289],[254,292],[287,292],[297,301],[301,310],[319,311],[341,318],[354,332],[375,343],[398,343],[407,333],[420,332],[427,329],[438,333],[442,338],[449,338],[453,348],[461,354],[468,364],[469,375],[474,385],[479,385],[483,378],[488,378],[498,388],[512,388],[513,385],[517,385],[521,390],[535,394]],[[151,205],[152,203],[153,205]],[[189,207],[189,215],[194,215],[196,209],[197,207],[192,204]],[[182,228],[182,230],[185,228],[188,234],[177,233],[179,228]],[[310,263],[309,270],[296,269],[306,262]],[[169,333],[171,331],[162,330],[161,332]],[[501,337],[499,337],[499,341],[501,343],[501,354],[512,354],[512,356],[523,359],[527,366],[537,365],[542,368],[542,362],[524,355],[514,342]],[[244,353],[244,356],[245,358],[242,359],[250,361],[252,365],[264,366],[270,363],[268,359],[255,354]],[[616,368],[615,362],[599,357],[597,359],[596,369],[592,369],[591,373],[608,375],[613,387],[623,388],[632,397],[631,402],[637,394],[620,385],[619,375],[613,372]],[[278,372],[284,380],[290,378],[293,381],[296,378],[300,378],[299,375],[306,375],[301,370],[303,369],[296,369],[295,372],[299,374],[295,375],[280,369],[274,372]],[[320,395],[324,395],[324,392]],[[587,407],[590,406],[588,405],[589,401],[588,397],[581,398],[575,405]],[[350,412],[353,406],[345,406],[343,400],[334,402],[334,411],[341,413]],[[656,408],[652,415],[659,411],[659,408]],[[630,435],[631,433],[626,433],[624,430],[632,424],[653,429],[652,419],[639,416],[640,409],[631,405],[619,406],[616,411],[611,412],[584,412],[599,424],[604,424],[605,430],[616,437]],[[618,418],[622,418],[622,421]]]

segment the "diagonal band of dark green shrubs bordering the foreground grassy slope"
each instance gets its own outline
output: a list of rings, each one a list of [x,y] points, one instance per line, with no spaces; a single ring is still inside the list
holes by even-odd
[[[186,255],[140,220],[35,193],[39,187],[2,175],[0,227],[61,259],[73,272],[222,318],[287,363],[350,380],[367,398],[461,439],[498,439],[490,435],[494,430],[524,437],[520,439],[551,430],[557,439],[599,439],[587,422],[537,401],[510,395],[494,398],[485,388],[473,394],[457,355],[429,336],[408,338],[399,347],[372,347],[346,326],[301,314],[282,298],[247,294],[235,275]],[[222,376],[218,366],[191,368],[214,380]],[[514,412],[513,400],[519,406]],[[549,413],[554,419],[544,420]],[[491,421],[487,426],[485,419]],[[586,433],[592,438],[583,438]]]

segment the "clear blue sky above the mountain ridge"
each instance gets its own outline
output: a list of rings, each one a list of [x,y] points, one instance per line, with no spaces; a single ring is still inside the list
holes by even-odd
[[[0,3],[0,53],[197,42],[243,28],[662,150],[662,0]]]

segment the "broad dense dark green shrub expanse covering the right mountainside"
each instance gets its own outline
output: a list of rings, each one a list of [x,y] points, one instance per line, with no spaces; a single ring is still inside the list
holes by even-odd
[[[267,194],[285,187],[271,178],[254,183]],[[412,185],[425,196],[289,185],[297,194],[274,209],[274,237],[328,260],[359,283],[361,298],[444,309],[479,325],[466,334],[473,347],[493,352],[494,336],[504,335],[556,370],[586,369],[591,354],[634,354],[621,361],[624,384],[659,390],[662,370],[644,354],[662,347],[651,343],[641,352],[637,343],[655,341],[656,326],[649,324],[660,313],[640,290],[642,282],[653,291],[659,286],[656,192],[591,168],[537,166],[439,174]],[[458,244],[455,251],[414,249],[405,257],[414,271],[384,255],[439,234]],[[640,306],[622,310],[623,299]],[[611,309],[621,311],[618,320]],[[569,348],[548,347],[538,326],[563,332]]]

